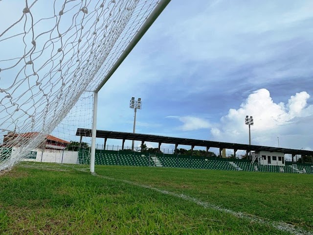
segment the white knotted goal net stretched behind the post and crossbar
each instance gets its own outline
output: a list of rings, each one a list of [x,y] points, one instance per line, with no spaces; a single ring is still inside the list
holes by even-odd
[[[89,164],[78,148],[89,151],[90,138],[75,136],[91,128],[88,91],[157,3],[0,0],[0,171],[21,161]]]

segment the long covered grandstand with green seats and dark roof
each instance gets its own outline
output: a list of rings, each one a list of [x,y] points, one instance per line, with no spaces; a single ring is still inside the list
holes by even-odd
[[[76,136],[91,137],[90,129],[78,128]],[[313,174],[313,164],[294,163],[295,155],[313,156],[313,151],[297,150],[288,148],[276,148],[260,145],[248,145],[239,143],[228,143],[218,141],[205,141],[175,137],[164,137],[156,135],[126,133],[115,131],[97,130],[96,138],[103,138],[106,143],[107,139],[122,140],[122,148],[114,150],[95,150],[95,164],[99,165],[134,165],[134,166],[156,166],[156,167],[178,167],[194,169],[218,169],[218,170],[238,170],[238,171],[261,171],[261,172],[280,172],[280,173],[309,173]],[[157,153],[135,152],[124,149],[125,140],[144,142],[157,142]],[[162,143],[175,144],[175,152],[179,145],[190,145],[191,155],[165,154],[160,151]],[[104,144],[105,145],[105,144]],[[193,149],[195,146],[206,147],[206,156],[194,156]],[[220,149],[219,156],[209,156],[210,147]],[[233,149],[233,158],[223,158],[223,149]],[[247,159],[236,158],[238,150],[245,150]],[[253,151],[251,156],[248,155]],[[264,155],[265,154],[265,155]],[[284,155],[291,154],[292,162],[284,161]],[[79,163],[89,163],[89,149],[81,148],[78,154]],[[266,161],[265,161],[266,160]]]

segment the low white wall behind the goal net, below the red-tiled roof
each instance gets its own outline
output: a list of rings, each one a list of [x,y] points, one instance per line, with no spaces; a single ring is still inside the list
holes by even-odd
[[[12,150],[15,151],[16,147],[13,147]],[[28,158],[29,156],[25,156],[22,161],[79,164],[78,152],[40,148],[32,149],[31,151],[37,153],[33,153],[31,158]],[[32,159],[33,157],[34,159]]]

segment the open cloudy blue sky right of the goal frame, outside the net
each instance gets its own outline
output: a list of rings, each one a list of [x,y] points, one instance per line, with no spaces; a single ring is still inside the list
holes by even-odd
[[[132,132],[134,96],[137,133],[248,143],[248,115],[252,144],[312,150],[312,39],[310,0],[172,0],[99,92],[97,129]]]

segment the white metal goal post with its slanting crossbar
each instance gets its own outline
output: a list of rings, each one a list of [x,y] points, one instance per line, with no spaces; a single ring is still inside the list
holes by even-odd
[[[160,0],[155,9],[151,12],[149,17],[141,25],[139,30],[134,35],[133,39],[130,41],[128,46],[121,53],[120,57],[113,64],[110,71],[106,74],[100,84],[93,91],[93,113],[92,113],[92,134],[91,134],[91,153],[90,153],[90,172],[94,172],[94,163],[95,163],[95,143],[96,143],[96,132],[97,132],[97,109],[98,109],[98,92],[104,86],[104,84],[110,79],[114,71],[122,64],[124,59],[136,46],[142,36],[147,32],[150,26],[156,21],[157,17],[161,14],[164,8],[171,0]]]

